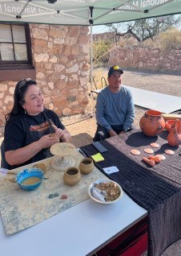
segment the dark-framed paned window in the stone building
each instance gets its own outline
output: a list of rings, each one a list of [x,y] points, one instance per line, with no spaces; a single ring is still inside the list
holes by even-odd
[[[0,23],[0,81],[5,77],[10,79],[10,70],[21,71],[22,69],[34,69],[30,28],[28,24]],[[16,72],[14,79],[18,78],[22,77],[18,77],[18,72]],[[10,80],[13,80],[13,77]]]

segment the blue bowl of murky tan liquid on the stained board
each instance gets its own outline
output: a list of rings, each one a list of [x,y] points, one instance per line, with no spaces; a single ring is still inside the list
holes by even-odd
[[[32,191],[42,184],[43,178],[44,172],[41,169],[28,168],[18,173],[16,181],[22,189]]]

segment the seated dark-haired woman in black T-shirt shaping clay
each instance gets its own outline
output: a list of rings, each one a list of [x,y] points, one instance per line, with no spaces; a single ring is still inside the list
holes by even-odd
[[[36,81],[19,81],[14,90],[14,106],[6,114],[4,151],[10,169],[50,157],[56,142],[70,142],[68,130],[53,110],[45,109]]]

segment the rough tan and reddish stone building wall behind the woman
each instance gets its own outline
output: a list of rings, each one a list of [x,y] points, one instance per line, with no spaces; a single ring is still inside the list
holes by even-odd
[[[36,81],[45,106],[58,116],[83,114],[88,103],[88,31],[88,27],[30,24]],[[0,81],[0,137],[17,82]]]

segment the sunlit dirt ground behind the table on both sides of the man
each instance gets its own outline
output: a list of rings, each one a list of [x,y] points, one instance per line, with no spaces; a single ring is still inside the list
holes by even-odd
[[[125,70],[123,73],[123,85],[129,85],[139,89],[146,89],[157,93],[170,94],[181,97],[181,72],[163,73],[163,72],[138,72]],[[94,95],[96,97],[96,95]],[[154,99],[153,99],[154,100]],[[86,114],[78,115],[74,118],[63,118],[62,122],[66,129],[70,131],[72,143],[75,147],[81,147],[92,142],[95,135],[95,102],[92,100],[93,111],[91,114],[91,97],[89,105],[86,108]],[[139,128],[139,120],[146,109],[135,107],[135,126]]]

